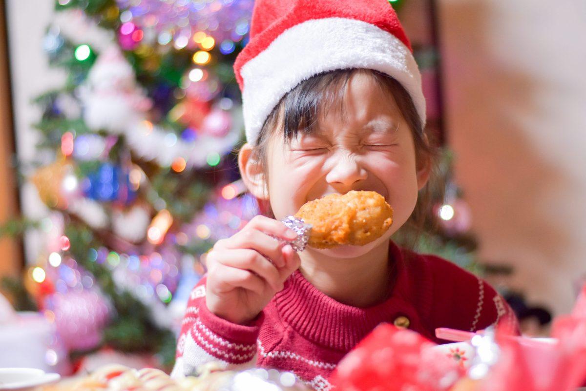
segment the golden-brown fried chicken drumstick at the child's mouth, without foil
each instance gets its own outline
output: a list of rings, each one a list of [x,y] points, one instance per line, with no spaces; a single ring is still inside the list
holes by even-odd
[[[363,246],[389,229],[393,208],[375,191],[352,190],[309,201],[295,217],[313,226],[308,244],[314,248]]]

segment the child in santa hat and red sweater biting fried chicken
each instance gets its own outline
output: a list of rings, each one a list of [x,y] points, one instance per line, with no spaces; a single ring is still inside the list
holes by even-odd
[[[234,68],[247,138],[241,175],[274,218],[253,218],[207,255],[173,375],[218,361],[293,371],[326,390],[340,359],[380,323],[437,342],[437,327],[514,327],[483,280],[390,240],[414,211],[433,150],[420,73],[387,0],[257,0]],[[376,191],[393,207],[381,238],[295,253],[271,237],[294,238],[281,218],[350,190]]]

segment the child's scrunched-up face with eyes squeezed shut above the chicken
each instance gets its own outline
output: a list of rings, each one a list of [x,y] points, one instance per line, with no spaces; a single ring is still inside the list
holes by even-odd
[[[393,225],[380,243],[413,212],[429,167],[416,167],[411,129],[390,93],[368,74],[350,78],[343,104],[345,115],[332,108],[311,135],[299,132],[289,144],[282,135],[269,140],[268,198],[281,219],[326,194],[376,191],[394,211]]]

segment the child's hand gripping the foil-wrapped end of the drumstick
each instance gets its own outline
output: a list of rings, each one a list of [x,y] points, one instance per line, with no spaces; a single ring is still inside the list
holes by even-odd
[[[255,216],[236,235],[216,242],[207,255],[206,304],[212,313],[232,323],[253,320],[299,267],[291,246],[269,234],[297,236],[280,221]]]

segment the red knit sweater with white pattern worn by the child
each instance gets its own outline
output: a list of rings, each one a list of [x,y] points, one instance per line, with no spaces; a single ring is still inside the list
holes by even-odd
[[[432,341],[435,328],[475,331],[499,322],[516,327],[506,302],[486,282],[447,260],[389,249],[394,262],[390,299],[369,308],[338,303],[297,270],[251,325],[230,323],[206,307],[205,277],[193,290],[177,347],[173,376],[219,361],[226,368],[264,366],[292,371],[314,389],[376,325],[402,323]]]

